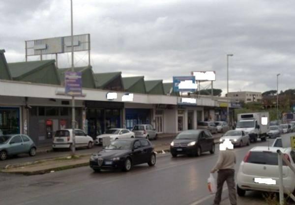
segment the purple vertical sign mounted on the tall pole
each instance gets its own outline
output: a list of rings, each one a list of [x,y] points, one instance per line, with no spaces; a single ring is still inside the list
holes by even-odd
[[[82,96],[82,73],[66,71],[64,75],[65,94]]]

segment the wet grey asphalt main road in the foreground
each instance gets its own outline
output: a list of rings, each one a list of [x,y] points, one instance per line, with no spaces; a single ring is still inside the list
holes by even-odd
[[[253,146],[267,146],[267,142],[235,148],[236,170]],[[94,173],[89,167],[37,176],[2,173],[0,204],[210,205],[214,195],[208,194],[207,178],[217,161],[217,150],[213,155],[204,153],[201,157],[172,158],[164,154],[157,157],[155,167],[139,165],[129,173]]]

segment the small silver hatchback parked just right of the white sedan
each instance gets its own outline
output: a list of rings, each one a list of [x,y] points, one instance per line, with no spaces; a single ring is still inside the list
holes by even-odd
[[[148,140],[156,140],[158,137],[157,131],[150,124],[137,124],[133,127],[132,132],[136,138],[146,138]]]

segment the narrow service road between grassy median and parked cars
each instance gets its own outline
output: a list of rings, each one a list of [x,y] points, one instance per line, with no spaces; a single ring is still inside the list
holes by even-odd
[[[221,134],[214,134],[214,138],[220,137]],[[165,146],[170,145],[172,142],[173,137],[165,137],[165,138],[158,138],[157,140],[152,140],[151,143],[154,146]],[[102,146],[93,146],[91,149],[86,148],[78,148],[76,150],[76,154],[91,154],[97,151],[100,151],[102,149]],[[54,157],[62,157],[62,156],[68,156],[71,154],[71,151],[65,149],[63,151],[57,151],[57,152],[47,152],[47,153],[37,153],[36,156],[30,157],[28,154],[19,154],[18,156],[9,157],[7,160],[0,161],[0,169],[4,168],[6,165],[9,164],[17,164],[17,163],[25,163],[29,161],[36,161],[41,159],[49,159]]]

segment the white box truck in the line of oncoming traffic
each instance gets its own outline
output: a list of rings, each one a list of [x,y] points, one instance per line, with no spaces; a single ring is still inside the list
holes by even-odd
[[[262,117],[267,117],[267,123],[262,123]],[[269,131],[269,113],[244,113],[237,115],[236,130],[243,130],[249,135],[252,142],[258,138],[266,141],[267,132]]]

